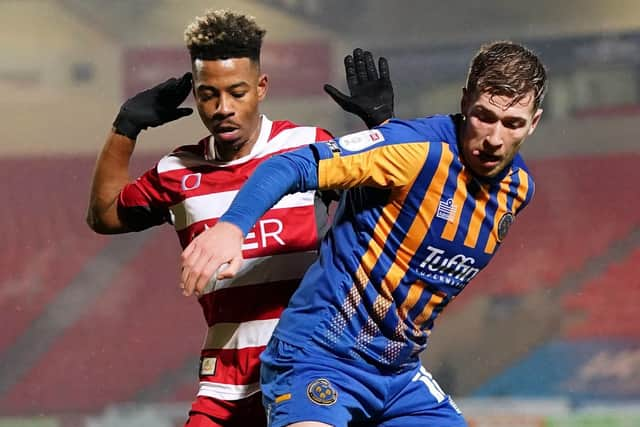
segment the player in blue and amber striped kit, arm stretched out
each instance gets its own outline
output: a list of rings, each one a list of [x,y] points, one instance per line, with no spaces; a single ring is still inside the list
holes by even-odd
[[[261,356],[271,427],[466,425],[419,355],[438,314],[531,200],[518,150],[540,121],[545,89],[545,68],[526,47],[483,46],[461,113],[391,120],[276,156],[187,246],[189,295],[214,272],[236,274],[243,236],[284,194],[345,190]]]

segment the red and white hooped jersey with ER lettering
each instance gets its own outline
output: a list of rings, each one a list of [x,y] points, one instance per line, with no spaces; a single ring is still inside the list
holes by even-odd
[[[216,223],[260,162],[328,139],[331,135],[325,130],[263,116],[249,155],[230,162],[216,160],[211,137],[180,147],[128,184],[118,209],[125,218],[127,211],[145,212],[144,223],[137,220],[139,230],[172,222],[184,248]],[[236,400],[259,390],[258,356],[315,260],[319,227],[326,225],[326,216],[315,208],[316,199],[307,192],[280,200],[245,237],[240,272],[233,279],[213,279],[199,298],[208,332],[198,395]]]

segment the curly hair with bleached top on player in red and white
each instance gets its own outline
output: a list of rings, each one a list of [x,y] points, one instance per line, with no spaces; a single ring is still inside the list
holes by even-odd
[[[250,58],[259,63],[265,33],[252,16],[228,9],[207,10],[189,24],[184,41],[192,61]]]

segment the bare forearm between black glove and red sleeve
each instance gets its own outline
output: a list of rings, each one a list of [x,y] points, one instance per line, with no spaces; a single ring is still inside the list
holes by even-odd
[[[131,181],[129,162],[135,141],[111,131],[96,161],[87,210],[87,224],[97,233],[128,231],[118,217],[118,196]]]

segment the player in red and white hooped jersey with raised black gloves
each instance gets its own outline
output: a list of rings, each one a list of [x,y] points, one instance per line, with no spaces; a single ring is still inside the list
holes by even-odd
[[[168,222],[184,248],[216,223],[264,159],[331,139],[323,129],[260,114],[268,87],[260,71],[264,34],[253,18],[228,10],[209,11],[187,27],[192,73],[135,95],[116,117],[94,172],[87,216],[93,230],[124,233]],[[386,60],[380,58],[378,75],[371,54],[356,49],[345,69],[351,96],[326,85],[332,98],[369,127],[389,119],[393,89]],[[177,148],[132,181],[128,166],[138,134],[191,114],[179,107],[190,92],[210,135]],[[328,226],[327,209],[318,202],[314,191],[284,199],[247,234],[243,274],[200,289],[208,331],[190,427],[265,425],[258,356],[317,256]]]

